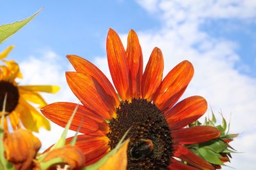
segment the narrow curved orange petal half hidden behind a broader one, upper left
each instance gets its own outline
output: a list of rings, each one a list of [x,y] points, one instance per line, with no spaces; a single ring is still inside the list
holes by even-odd
[[[110,81],[105,76],[105,74],[102,73],[100,69],[98,69],[98,67],[92,64],[92,62],[76,55],[67,55],[67,58],[72,64],[72,66],[74,66],[77,72],[89,74],[90,76],[95,78],[97,81],[99,81],[102,87],[104,88],[104,90],[108,94],[110,94],[111,97],[113,97],[113,101],[111,101],[111,103],[113,103],[115,108],[119,106],[120,104],[119,99],[116,96],[116,91],[113,85],[110,83]]]

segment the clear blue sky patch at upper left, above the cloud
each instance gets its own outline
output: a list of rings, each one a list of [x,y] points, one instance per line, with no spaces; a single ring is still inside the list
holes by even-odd
[[[44,10],[35,20],[1,49],[15,44],[13,55],[19,60],[42,48],[54,49],[63,56],[74,53],[92,57],[105,54],[109,27],[118,32],[159,27],[159,20],[134,1],[15,1],[3,4],[0,15],[6,17],[1,17],[0,23],[22,20],[41,7]]]

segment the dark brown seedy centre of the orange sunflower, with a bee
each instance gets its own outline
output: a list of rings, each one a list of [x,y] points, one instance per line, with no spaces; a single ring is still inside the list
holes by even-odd
[[[110,123],[109,146],[115,148],[127,134],[127,169],[167,169],[173,156],[172,134],[163,112],[146,99],[124,101]]]

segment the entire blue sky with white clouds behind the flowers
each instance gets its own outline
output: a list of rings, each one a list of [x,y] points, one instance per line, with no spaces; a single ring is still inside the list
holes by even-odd
[[[72,69],[65,55],[91,60],[110,79],[108,29],[115,29],[124,43],[134,29],[144,65],[154,46],[163,51],[164,74],[182,60],[193,63],[195,75],[183,98],[204,96],[216,113],[222,111],[227,118],[232,113],[230,131],[242,133],[232,146],[244,153],[234,154],[228,165],[255,169],[256,1],[4,1],[0,24],[22,20],[41,7],[44,10],[0,45],[0,51],[15,45],[9,59],[20,62],[24,84],[61,86],[55,96],[45,96],[49,103],[77,102],[65,80],[65,71]],[[40,133],[47,146],[62,131],[52,127]],[[44,141],[49,135],[52,138]]]

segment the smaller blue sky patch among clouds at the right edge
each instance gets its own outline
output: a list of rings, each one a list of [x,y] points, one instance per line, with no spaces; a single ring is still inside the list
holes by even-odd
[[[241,56],[237,69],[256,77],[256,23],[255,20],[207,20],[202,30],[216,38],[225,38],[237,43],[236,52]],[[239,67],[245,64],[248,69]]]

